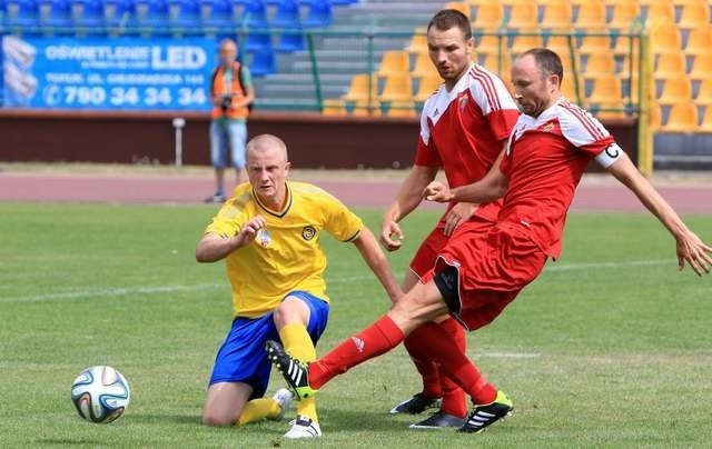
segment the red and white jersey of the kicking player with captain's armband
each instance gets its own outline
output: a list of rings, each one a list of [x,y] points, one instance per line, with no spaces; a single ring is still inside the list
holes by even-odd
[[[599,120],[563,98],[536,118],[522,114],[501,164],[510,184],[498,226],[524,226],[542,251],[557,258],[581,176],[606,150],[607,160],[621,151]]]

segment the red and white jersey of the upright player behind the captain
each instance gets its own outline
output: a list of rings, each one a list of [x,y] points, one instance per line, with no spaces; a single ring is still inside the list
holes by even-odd
[[[451,187],[476,182],[494,164],[518,117],[504,81],[472,64],[449,92],[442,84],[425,102],[415,164],[442,167]],[[497,218],[494,207],[475,214]]]

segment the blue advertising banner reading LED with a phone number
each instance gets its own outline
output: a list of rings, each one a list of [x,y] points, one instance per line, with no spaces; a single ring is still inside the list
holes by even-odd
[[[209,109],[214,39],[4,36],[3,106],[44,109]]]

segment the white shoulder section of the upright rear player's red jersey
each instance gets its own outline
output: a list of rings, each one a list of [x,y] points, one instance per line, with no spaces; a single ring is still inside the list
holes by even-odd
[[[501,109],[517,110],[504,81],[484,67],[473,63],[452,91],[448,92],[445,84],[441,84],[425,102],[421,114],[421,138],[425,144],[431,139],[429,123],[435,126],[451,103],[466,89],[469,89],[469,94],[485,116]]]

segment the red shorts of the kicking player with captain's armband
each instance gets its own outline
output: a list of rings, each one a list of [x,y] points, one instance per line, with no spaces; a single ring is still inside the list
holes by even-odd
[[[491,323],[544,268],[546,255],[524,228],[500,223],[488,231],[463,225],[437,256],[433,272],[457,269],[459,310],[468,330]],[[423,282],[433,279],[433,272]]]

